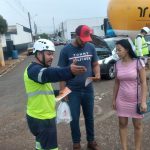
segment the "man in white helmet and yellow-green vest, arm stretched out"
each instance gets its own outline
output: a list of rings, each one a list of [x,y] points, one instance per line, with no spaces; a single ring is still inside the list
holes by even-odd
[[[56,131],[55,96],[52,82],[67,81],[86,71],[72,63],[64,68],[52,68],[54,44],[46,39],[34,43],[35,61],[24,72],[28,96],[27,122],[36,138],[36,150],[58,150]]]

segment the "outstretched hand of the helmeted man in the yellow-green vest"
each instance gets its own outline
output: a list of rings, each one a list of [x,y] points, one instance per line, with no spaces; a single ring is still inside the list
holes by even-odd
[[[87,71],[85,66],[78,66],[76,65],[76,61],[74,60],[73,63],[70,65],[70,69],[73,75],[80,75]]]

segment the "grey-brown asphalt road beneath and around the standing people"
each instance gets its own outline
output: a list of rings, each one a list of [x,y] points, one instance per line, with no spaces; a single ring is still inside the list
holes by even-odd
[[[53,66],[57,64],[57,47]],[[34,137],[30,134],[26,119],[26,96],[23,84],[23,72],[33,56],[27,57],[13,70],[0,77],[0,150],[33,150]],[[118,119],[111,109],[113,80],[94,83],[95,88],[95,137],[102,150],[121,150]],[[58,88],[58,84],[54,84]],[[143,149],[150,150],[150,115],[144,119]],[[82,149],[86,150],[84,119],[81,114],[80,127]],[[68,124],[58,125],[58,143],[61,150],[71,150],[72,142]],[[134,131],[129,121],[129,150],[134,150]]]

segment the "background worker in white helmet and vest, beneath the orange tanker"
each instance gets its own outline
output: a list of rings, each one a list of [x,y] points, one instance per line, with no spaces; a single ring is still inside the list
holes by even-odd
[[[135,47],[137,56],[143,57],[149,55],[148,45],[145,41],[144,36],[148,34],[150,29],[148,27],[143,27],[140,34],[137,35],[135,39]]]

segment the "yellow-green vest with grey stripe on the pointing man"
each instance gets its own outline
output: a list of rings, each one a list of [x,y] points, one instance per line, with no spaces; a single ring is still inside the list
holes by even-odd
[[[28,95],[27,114],[37,119],[56,117],[56,100],[51,84],[40,84],[31,80],[27,69],[24,72],[24,83]]]

